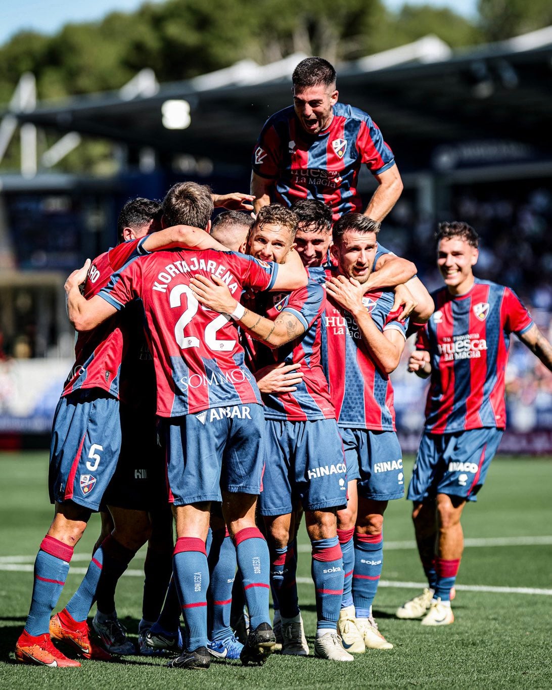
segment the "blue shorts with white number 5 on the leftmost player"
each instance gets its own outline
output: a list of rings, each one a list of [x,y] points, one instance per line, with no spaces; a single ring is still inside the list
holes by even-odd
[[[101,388],[61,397],[52,426],[50,501],[99,510],[120,449],[119,400]]]

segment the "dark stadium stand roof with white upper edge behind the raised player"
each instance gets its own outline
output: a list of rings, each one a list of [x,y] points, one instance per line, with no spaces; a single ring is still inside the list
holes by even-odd
[[[253,61],[157,85],[39,101],[19,121],[59,132],[107,137],[130,148],[177,152],[248,166],[266,118],[290,105],[290,75],[304,55],[259,66]],[[452,51],[435,36],[337,67],[339,100],[369,112],[402,166],[431,165],[443,144],[515,141],[552,159],[552,26],[508,41]],[[161,107],[184,100],[190,125],[169,129]]]

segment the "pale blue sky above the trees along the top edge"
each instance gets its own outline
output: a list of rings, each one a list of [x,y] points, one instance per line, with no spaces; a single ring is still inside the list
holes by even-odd
[[[150,0],[150,2],[159,0]],[[446,6],[466,17],[475,15],[477,0],[408,0],[412,5]],[[132,12],[143,0],[4,0],[0,21],[0,44],[23,29],[53,34],[68,22],[94,21],[108,12]],[[384,0],[391,9],[402,6],[404,0]]]

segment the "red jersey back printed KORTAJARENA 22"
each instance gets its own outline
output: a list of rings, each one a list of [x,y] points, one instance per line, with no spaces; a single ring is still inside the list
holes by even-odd
[[[244,364],[237,328],[203,307],[190,288],[195,275],[216,275],[239,297],[242,287],[266,290],[277,264],[215,250],[161,251],[128,262],[99,295],[120,309],[139,298],[155,364],[157,414],[179,417],[212,407],[261,404]]]

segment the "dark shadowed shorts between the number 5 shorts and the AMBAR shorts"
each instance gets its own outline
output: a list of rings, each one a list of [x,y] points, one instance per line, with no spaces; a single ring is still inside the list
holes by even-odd
[[[151,511],[168,502],[165,449],[157,438],[157,417],[121,403],[121,453],[103,503]]]

